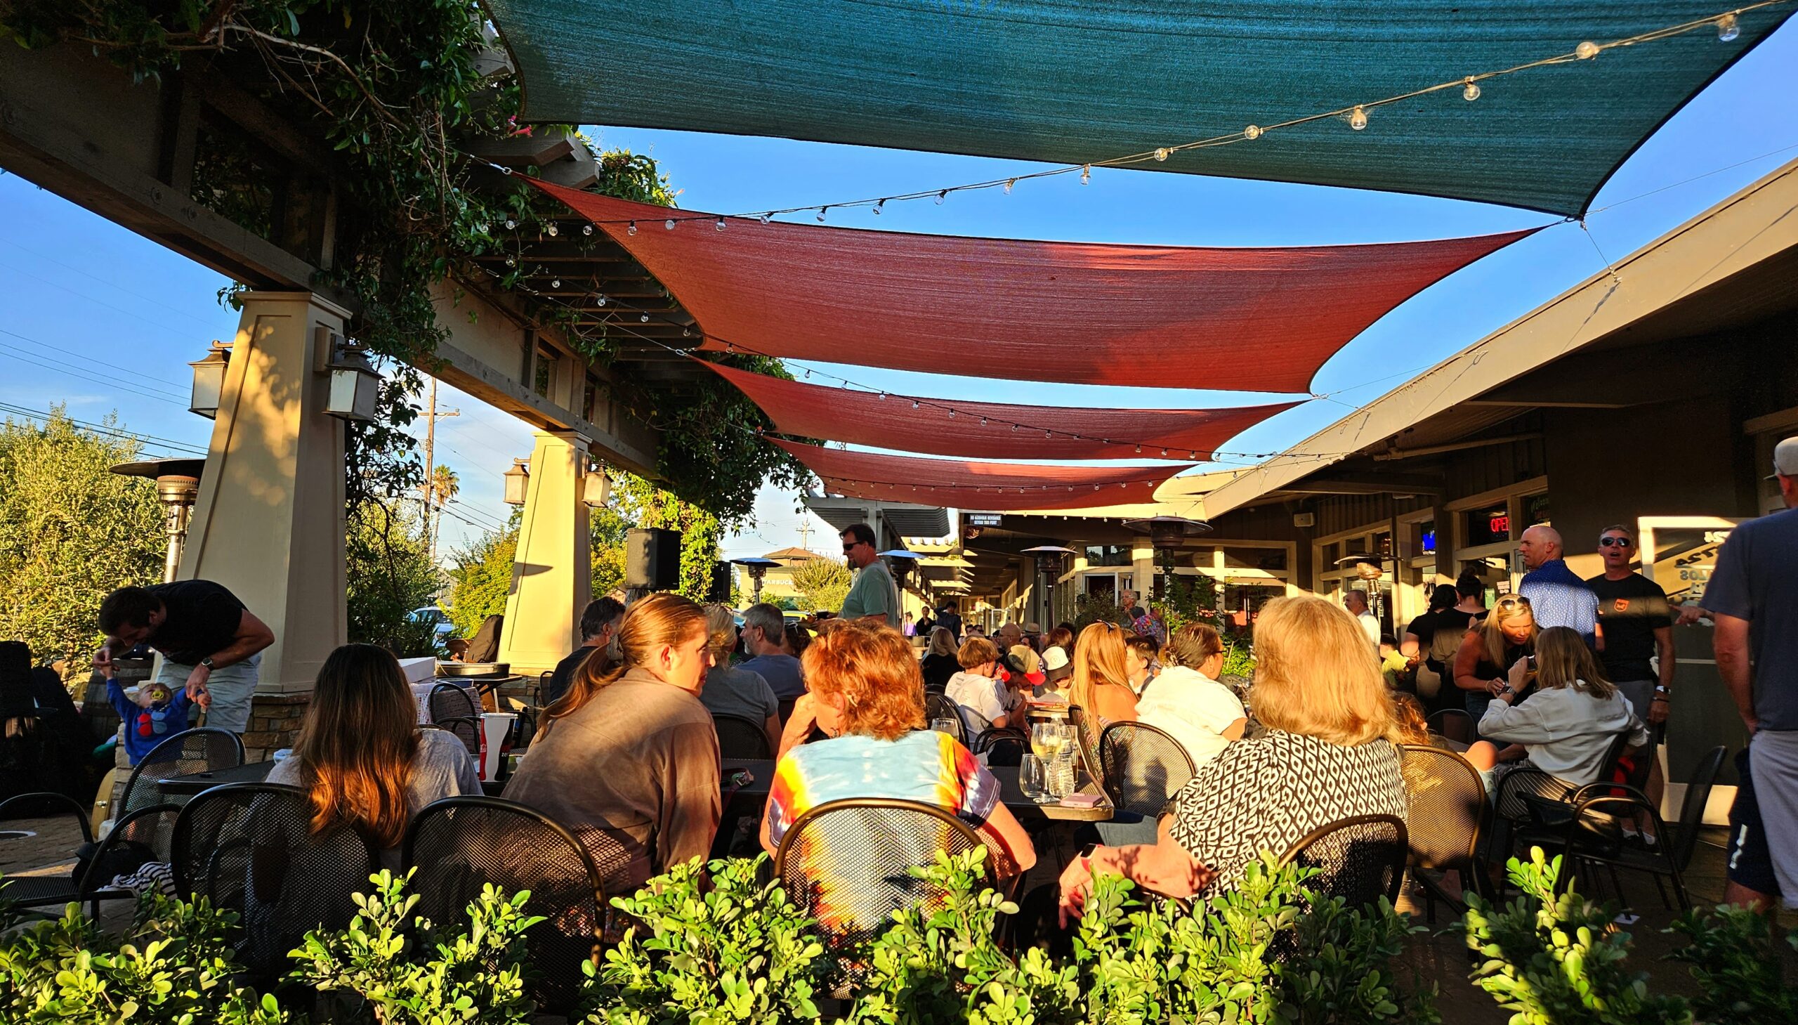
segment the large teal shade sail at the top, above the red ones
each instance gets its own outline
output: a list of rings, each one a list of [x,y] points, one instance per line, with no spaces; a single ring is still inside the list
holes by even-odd
[[[1721,0],[489,0],[536,122],[1097,164],[1570,54]],[[1607,49],[1133,167],[1580,214],[1793,13]],[[955,185],[942,182],[940,185]],[[937,183],[930,183],[937,185]],[[859,196],[820,196],[820,203]]]

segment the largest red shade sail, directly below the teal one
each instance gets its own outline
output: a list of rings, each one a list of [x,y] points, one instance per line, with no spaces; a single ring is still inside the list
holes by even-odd
[[[764,225],[525,180],[665,284],[705,349],[1086,385],[1305,392],[1386,311],[1532,234],[1298,248],[1043,243]]]

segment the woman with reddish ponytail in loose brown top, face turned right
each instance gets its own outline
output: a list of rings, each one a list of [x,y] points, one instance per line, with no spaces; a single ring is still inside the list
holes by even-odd
[[[705,611],[674,593],[631,604],[615,664],[588,658],[545,709],[530,753],[505,786],[572,829],[608,894],[705,858],[717,833],[717,732],[699,703],[712,667]]]

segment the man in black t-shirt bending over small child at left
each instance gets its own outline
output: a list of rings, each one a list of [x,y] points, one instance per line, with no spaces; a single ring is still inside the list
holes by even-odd
[[[119,588],[101,602],[101,631],[106,642],[93,653],[95,669],[147,644],[162,653],[156,683],[183,687],[207,710],[209,726],[248,728],[259,653],[275,642],[275,631],[237,595],[212,581]]]

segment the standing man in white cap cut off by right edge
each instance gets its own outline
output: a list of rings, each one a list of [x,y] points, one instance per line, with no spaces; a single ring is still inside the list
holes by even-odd
[[[1717,674],[1749,732],[1724,901],[1766,906],[1782,896],[1798,908],[1798,437],[1773,450],[1769,480],[1785,511],[1730,532],[1699,604],[1717,624]]]

